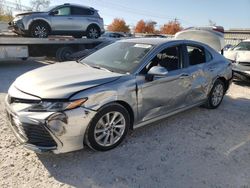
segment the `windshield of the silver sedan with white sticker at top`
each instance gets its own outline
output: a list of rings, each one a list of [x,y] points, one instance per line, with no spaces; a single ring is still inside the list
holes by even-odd
[[[116,42],[96,51],[80,62],[112,72],[131,73],[152,47],[151,44]]]

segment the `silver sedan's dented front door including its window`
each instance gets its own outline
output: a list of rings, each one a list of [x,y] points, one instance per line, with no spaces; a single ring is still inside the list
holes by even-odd
[[[147,78],[147,72],[153,66],[164,67],[168,74]],[[162,50],[148,63],[137,76],[138,110],[141,121],[186,106],[186,98],[191,90],[191,79],[186,70],[181,46]]]

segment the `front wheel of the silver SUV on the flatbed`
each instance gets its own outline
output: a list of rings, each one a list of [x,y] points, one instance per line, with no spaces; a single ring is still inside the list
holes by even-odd
[[[47,38],[49,35],[49,26],[43,22],[36,22],[30,28],[30,36],[34,38]]]

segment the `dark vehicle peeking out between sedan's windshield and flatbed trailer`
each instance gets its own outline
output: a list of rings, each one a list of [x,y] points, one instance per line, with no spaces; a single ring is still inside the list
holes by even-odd
[[[106,41],[104,41],[101,44],[95,46],[94,48],[84,49],[84,50],[81,50],[79,52],[73,53],[72,55],[70,55],[68,60],[77,61],[77,60],[82,59],[82,58],[88,56],[89,54],[92,54],[95,51],[100,50],[101,48],[103,48],[105,46],[108,46],[108,45],[110,45],[110,44],[112,44],[112,43],[114,43],[116,41],[117,41],[116,39],[107,39]]]

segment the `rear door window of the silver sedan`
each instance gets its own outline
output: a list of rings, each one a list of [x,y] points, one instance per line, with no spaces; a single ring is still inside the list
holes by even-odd
[[[187,46],[189,65],[198,65],[206,62],[205,51],[202,47]]]

